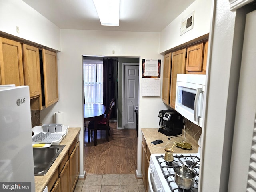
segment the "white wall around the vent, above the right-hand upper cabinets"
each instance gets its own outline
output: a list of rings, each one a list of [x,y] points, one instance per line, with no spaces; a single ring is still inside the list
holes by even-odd
[[[173,22],[166,26],[160,35],[160,53],[209,33],[211,6],[212,0],[196,0]],[[193,29],[180,36],[180,24],[182,20],[193,11]]]

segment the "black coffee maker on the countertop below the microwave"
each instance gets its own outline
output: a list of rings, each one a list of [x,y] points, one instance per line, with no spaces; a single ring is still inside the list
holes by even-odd
[[[158,132],[167,136],[182,135],[183,116],[174,110],[161,110],[158,114],[159,129]]]

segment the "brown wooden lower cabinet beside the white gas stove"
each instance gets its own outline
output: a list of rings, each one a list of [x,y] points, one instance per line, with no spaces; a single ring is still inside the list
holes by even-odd
[[[147,147],[146,140],[142,136],[142,159],[141,159],[141,174],[145,191],[148,192],[148,166],[150,160],[150,151]]]

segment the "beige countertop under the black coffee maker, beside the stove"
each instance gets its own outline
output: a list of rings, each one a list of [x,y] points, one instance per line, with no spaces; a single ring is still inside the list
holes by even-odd
[[[182,142],[184,140],[184,130],[182,130],[183,134],[182,136],[173,137],[171,140],[168,140],[169,136],[166,136],[160,132],[158,132],[158,128],[142,128],[141,129],[142,134],[146,140],[146,144],[150,150],[150,154],[153,153],[165,153],[165,148],[172,148],[174,142],[177,143]],[[151,144],[152,141],[155,140],[162,140],[163,143],[153,145]],[[184,142],[187,142],[192,145],[192,150],[185,150],[182,148],[178,148],[174,145],[172,148],[174,150],[174,153],[197,153],[198,152],[198,142],[186,132],[186,140]]]

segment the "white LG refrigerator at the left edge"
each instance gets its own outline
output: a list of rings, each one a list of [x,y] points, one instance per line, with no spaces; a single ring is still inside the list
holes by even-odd
[[[31,129],[28,86],[0,86],[0,191],[13,184],[35,191]]]

